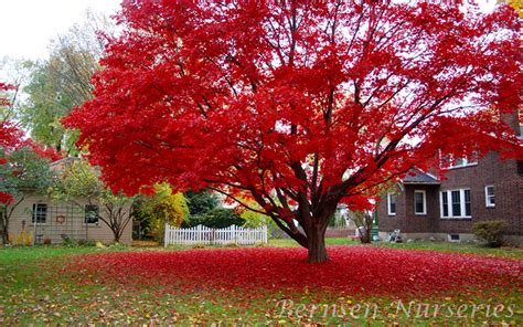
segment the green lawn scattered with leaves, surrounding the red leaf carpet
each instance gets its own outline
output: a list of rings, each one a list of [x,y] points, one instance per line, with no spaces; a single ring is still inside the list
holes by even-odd
[[[348,239],[328,239],[329,245],[356,245]],[[291,240],[270,240],[269,246],[297,246]],[[476,255],[499,256],[523,260],[522,249],[487,249],[474,244],[450,243],[381,243],[371,246],[398,247],[406,250],[441,251],[472,253]],[[159,249],[154,249],[159,250]],[[482,315],[470,318],[471,307],[466,309],[466,318],[455,317],[416,318],[401,315],[394,298],[373,297],[354,298],[350,294],[337,297],[312,292],[296,294],[259,294],[256,298],[246,298],[241,292],[225,289],[198,289],[185,292],[182,287],[164,286],[121,287],[111,283],[78,284],[63,272],[64,266],[74,262],[78,255],[88,253],[110,253],[115,251],[150,251],[137,247],[12,247],[0,249],[0,325],[49,325],[49,324],[89,324],[120,323],[124,325],[170,323],[181,325],[212,323],[297,325],[297,324],[350,324],[350,325],[477,325],[509,324],[517,326],[522,321],[522,297],[520,293],[506,293],[499,289],[474,297],[452,298],[456,305],[485,303],[487,305],[511,305],[510,316]],[[210,267],[211,268],[211,267]],[[154,276],[150,276],[153,278]],[[319,302],[321,299],[321,302]],[[430,306],[440,304],[441,298],[414,299]],[[355,305],[361,310],[349,312]],[[374,305],[380,307],[377,317],[362,314]],[[403,304],[408,308],[408,304]],[[341,312],[340,309],[346,312]],[[433,307],[434,308],[434,307]],[[333,313],[333,310],[338,310]],[[309,315],[311,314],[312,315]],[[327,313],[327,314],[325,314]],[[371,312],[372,314],[372,312]]]

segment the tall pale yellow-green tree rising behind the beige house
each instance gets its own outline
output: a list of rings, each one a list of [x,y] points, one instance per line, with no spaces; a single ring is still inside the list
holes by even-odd
[[[20,117],[34,140],[57,151],[76,155],[78,134],[62,126],[60,119],[93,98],[90,78],[99,70],[104,41],[98,31],[108,34],[114,25],[104,15],[86,13],[86,22],[72,27],[51,44],[49,60],[31,64]]]

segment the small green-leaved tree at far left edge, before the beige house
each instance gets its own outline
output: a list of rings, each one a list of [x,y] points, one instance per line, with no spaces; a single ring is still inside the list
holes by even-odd
[[[7,162],[0,165],[0,192],[11,194],[13,201],[0,203],[0,234],[2,243],[8,243],[9,222],[14,209],[25,199],[28,192],[45,193],[53,182],[54,173],[49,159],[41,158],[29,147],[6,152],[0,147],[0,157]]]

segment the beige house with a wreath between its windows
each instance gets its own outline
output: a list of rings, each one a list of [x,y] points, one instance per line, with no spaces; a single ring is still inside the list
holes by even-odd
[[[74,158],[53,162],[52,168],[60,171],[71,160]],[[13,243],[21,243],[24,236],[26,242],[31,239],[35,244],[62,243],[67,238],[111,243],[113,231],[100,220],[104,214],[99,204],[89,204],[86,199],[77,199],[74,203],[56,202],[44,194],[26,193],[11,215],[9,234]],[[131,241],[132,221],[129,221],[120,243],[130,244]]]

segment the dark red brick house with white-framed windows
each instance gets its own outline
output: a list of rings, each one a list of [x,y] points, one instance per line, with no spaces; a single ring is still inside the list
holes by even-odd
[[[505,240],[523,243],[523,161],[500,160],[494,152],[458,160],[446,179],[414,169],[391,189],[378,210],[380,236],[393,230],[407,239],[473,239],[472,224],[504,220]]]

